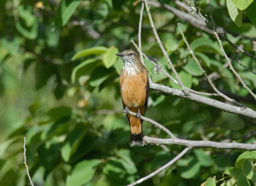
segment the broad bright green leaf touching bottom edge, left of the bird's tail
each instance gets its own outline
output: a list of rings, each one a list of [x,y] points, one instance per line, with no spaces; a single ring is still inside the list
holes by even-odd
[[[84,185],[90,182],[99,164],[98,159],[83,160],[76,164],[70,176],[67,177],[67,186]]]

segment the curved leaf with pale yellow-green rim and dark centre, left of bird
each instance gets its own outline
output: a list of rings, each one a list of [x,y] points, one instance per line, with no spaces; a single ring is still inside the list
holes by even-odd
[[[77,65],[71,74],[71,82],[74,84],[77,79],[80,77],[83,77],[83,83],[85,82],[84,77],[90,78],[90,74],[99,65],[98,59],[87,59],[86,61],[83,61],[79,65]],[[81,81],[80,81],[81,82]]]

